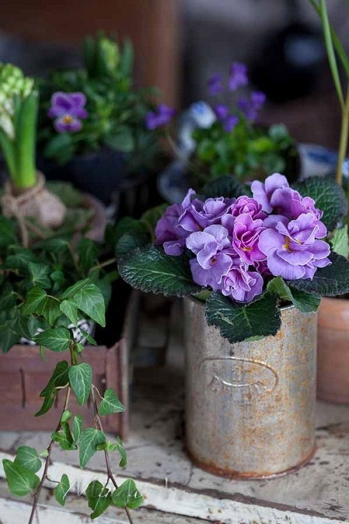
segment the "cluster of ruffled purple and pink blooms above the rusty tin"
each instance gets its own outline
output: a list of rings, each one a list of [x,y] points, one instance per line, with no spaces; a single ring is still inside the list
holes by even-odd
[[[238,302],[262,293],[265,278],[312,279],[331,262],[322,212],[275,173],[251,184],[253,198],[196,198],[190,189],[156,225],[156,243],[179,256],[189,249],[193,280]]]

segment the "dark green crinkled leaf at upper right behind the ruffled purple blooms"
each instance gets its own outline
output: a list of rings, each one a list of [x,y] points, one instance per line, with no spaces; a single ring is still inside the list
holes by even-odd
[[[321,221],[329,231],[333,231],[345,217],[348,208],[346,194],[331,178],[309,177],[294,187],[302,196],[313,198],[316,208],[324,212]]]

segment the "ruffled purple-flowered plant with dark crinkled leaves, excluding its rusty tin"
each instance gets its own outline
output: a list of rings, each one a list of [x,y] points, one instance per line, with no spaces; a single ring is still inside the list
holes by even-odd
[[[346,210],[332,180],[290,187],[274,173],[249,187],[221,177],[137,224],[121,221],[119,274],[142,291],[202,300],[208,323],[232,343],[276,335],[281,306],[310,313],[321,296],[348,293],[337,229]]]

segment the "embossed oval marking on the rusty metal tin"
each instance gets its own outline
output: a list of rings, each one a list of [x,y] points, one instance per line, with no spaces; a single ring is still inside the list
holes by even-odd
[[[227,361],[232,366],[227,365]],[[215,393],[231,393],[235,390],[235,402],[252,402],[260,395],[271,393],[279,384],[274,368],[253,358],[235,356],[205,358],[199,369],[205,366],[208,387]]]

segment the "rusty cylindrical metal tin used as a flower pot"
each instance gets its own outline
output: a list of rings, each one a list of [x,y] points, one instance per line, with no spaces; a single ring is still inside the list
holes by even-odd
[[[262,478],[306,463],[314,450],[316,314],[281,310],[275,337],[230,344],[205,307],[184,299],[186,446],[212,473]]]

